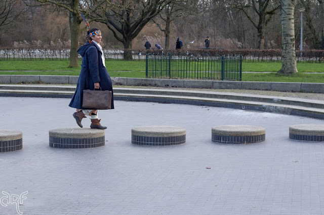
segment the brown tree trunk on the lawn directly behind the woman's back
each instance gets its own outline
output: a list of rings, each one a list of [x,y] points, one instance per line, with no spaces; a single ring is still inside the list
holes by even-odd
[[[78,64],[78,40],[80,35],[80,20],[79,14],[71,13],[70,12],[70,19],[69,19],[69,25],[70,25],[70,32],[71,32],[71,49],[70,49],[70,65],[69,67],[79,67]]]

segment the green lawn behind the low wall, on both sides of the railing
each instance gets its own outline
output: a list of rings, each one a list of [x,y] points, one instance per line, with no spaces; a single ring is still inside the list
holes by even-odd
[[[81,64],[81,61],[79,61]],[[68,68],[69,61],[0,61],[0,75],[79,75],[79,68]],[[111,77],[145,77],[145,61],[106,61]],[[281,63],[242,63],[244,72],[277,72]],[[324,83],[324,64],[299,63],[298,74],[243,73],[243,81]],[[14,72],[4,72],[12,71]],[[29,72],[30,71],[30,72]],[[321,74],[307,74],[319,72]]]

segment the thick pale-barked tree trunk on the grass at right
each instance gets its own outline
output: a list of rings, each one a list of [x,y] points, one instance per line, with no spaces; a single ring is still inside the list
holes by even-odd
[[[278,73],[282,74],[298,73],[295,53],[295,6],[295,0],[281,0],[282,66]]]

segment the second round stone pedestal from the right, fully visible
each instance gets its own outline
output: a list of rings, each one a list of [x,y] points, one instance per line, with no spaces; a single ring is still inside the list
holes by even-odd
[[[220,143],[257,143],[265,140],[265,129],[258,126],[225,125],[212,128],[212,141]]]

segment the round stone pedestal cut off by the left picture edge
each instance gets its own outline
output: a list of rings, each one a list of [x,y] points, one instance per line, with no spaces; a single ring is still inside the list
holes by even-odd
[[[22,149],[22,132],[0,129],[0,152]]]

